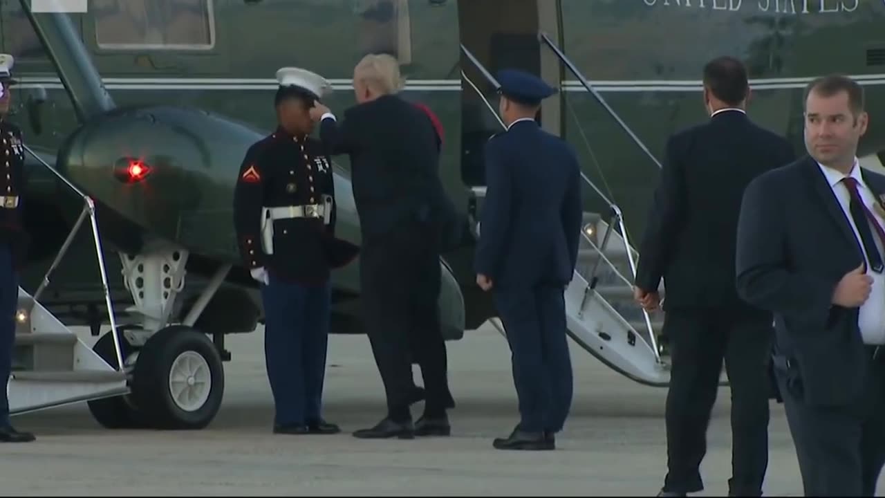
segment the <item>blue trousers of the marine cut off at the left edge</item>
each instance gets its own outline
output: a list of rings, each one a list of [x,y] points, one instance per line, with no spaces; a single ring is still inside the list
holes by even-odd
[[[12,266],[9,244],[0,243],[0,428],[10,424],[6,385],[12,373],[15,347],[15,312],[19,304],[19,279]]]

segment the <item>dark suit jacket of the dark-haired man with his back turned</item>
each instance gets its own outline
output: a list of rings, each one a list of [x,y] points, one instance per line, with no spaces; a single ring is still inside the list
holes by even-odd
[[[635,284],[656,291],[663,277],[666,309],[726,309],[770,323],[770,313],[748,306],[735,290],[737,219],[750,181],[792,160],[789,142],[737,110],[672,136]]]

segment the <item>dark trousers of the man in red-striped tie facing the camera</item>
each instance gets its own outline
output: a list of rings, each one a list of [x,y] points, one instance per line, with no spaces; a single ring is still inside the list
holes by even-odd
[[[885,346],[867,346],[863,394],[847,406],[804,402],[796,370],[775,362],[806,496],[873,496],[885,464]],[[795,367],[792,367],[795,369]]]

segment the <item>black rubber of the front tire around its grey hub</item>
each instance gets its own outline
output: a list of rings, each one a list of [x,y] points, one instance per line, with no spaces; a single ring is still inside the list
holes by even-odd
[[[208,397],[191,410],[179,406],[169,387],[173,363],[186,353],[197,354],[204,360],[211,381]],[[218,349],[204,333],[185,325],[157,331],[138,354],[132,396],[139,416],[156,429],[203,429],[218,413],[224,397],[224,366]]]

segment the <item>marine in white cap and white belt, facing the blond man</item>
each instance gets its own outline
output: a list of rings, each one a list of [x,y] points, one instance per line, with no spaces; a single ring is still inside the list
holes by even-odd
[[[358,247],[335,238],[335,184],[309,110],[331,89],[296,67],[277,72],[279,126],[246,152],[234,193],[243,261],[261,284],[273,432],[335,433],[321,416],[330,313],[330,270]]]

